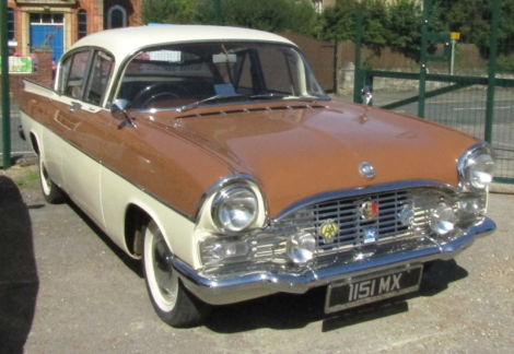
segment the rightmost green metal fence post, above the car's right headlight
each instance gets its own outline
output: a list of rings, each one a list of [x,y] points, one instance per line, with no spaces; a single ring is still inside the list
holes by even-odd
[[[497,84],[498,28],[500,26],[501,0],[492,2],[491,47],[489,48],[488,95],[486,104],[486,141],[492,143],[492,123],[494,117],[494,90]]]

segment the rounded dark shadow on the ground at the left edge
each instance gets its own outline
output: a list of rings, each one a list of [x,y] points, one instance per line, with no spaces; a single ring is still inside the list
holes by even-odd
[[[34,320],[39,280],[32,222],[20,189],[0,176],[0,343],[23,353]]]

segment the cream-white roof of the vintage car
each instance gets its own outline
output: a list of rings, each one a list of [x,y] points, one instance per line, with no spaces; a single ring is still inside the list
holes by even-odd
[[[77,42],[70,50],[91,46],[102,47],[120,60],[148,46],[200,40],[258,40],[294,45],[272,33],[249,28],[209,25],[151,25],[97,32]]]

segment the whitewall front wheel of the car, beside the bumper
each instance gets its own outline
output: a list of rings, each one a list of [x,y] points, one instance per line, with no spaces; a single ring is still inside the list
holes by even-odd
[[[190,295],[182,284],[173,268],[174,255],[154,221],[144,231],[142,258],[147,288],[159,317],[173,327],[200,323],[207,305]]]

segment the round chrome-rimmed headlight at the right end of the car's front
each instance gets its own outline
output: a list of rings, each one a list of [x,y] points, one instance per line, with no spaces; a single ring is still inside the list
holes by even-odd
[[[467,189],[486,189],[494,177],[494,160],[490,148],[481,145],[468,151],[459,161],[459,174]]]

